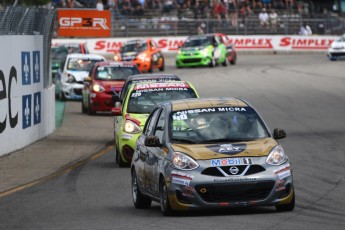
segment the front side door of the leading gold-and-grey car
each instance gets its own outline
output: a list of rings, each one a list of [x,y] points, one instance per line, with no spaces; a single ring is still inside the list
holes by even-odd
[[[160,144],[164,142],[164,133],[166,126],[166,112],[162,109],[157,116],[157,122],[155,122],[152,130],[152,135],[159,138]],[[150,193],[159,197],[159,165],[162,165],[164,161],[164,155],[162,152],[162,147],[148,147],[147,148],[147,161],[145,164],[145,172],[149,177],[148,183],[150,188]]]

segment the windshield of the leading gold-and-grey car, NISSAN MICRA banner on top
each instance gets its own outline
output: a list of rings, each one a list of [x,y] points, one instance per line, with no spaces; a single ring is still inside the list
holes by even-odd
[[[169,117],[172,143],[250,141],[269,134],[250,107],[212,107],[175,111]]]

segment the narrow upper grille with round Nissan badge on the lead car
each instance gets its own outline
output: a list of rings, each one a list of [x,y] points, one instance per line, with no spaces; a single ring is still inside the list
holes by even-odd
[[[210,167],[204,169],[201,174],[207,176],[217,176],[217,177],[226,177],[232,175],[242,175],[248,176],[260,172],[264,172],[265,168],[261,165],[236,165],[238,172],[236,174],[230,173],[230,168],[233,166],[221,166],[221,167]]]

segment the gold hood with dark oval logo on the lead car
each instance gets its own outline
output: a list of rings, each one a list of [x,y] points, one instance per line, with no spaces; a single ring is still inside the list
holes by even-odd
[[[262,157],[268,156],[277,145],[272,138],[247,142],[215,143],[215,144],[172,144],[174,151],[188,154],[196,160],[208,160],[224,157]]]

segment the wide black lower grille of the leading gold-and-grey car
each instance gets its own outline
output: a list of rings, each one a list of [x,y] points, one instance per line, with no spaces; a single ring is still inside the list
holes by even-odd
[[[274,181],[205,184],[195,187],[205,202],[264,200],[274,187]]]

